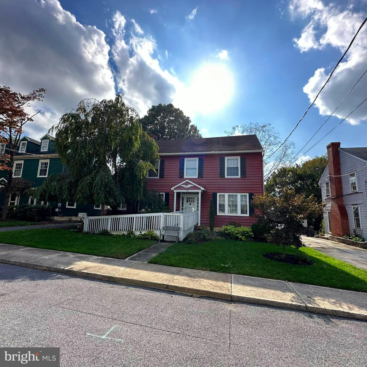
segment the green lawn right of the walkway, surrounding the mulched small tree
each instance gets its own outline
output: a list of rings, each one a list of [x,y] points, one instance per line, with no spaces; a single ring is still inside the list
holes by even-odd
[[[287,247],[288,254],[295,248]],[[212,272],[281,279],[317,286],[367,292],[367,271],[302,247],[314,265],[291,265],[266,259],[265,252],[283,252],[283,247],[269,243],[214,240],[202,244],[174,244],[153,257],[149,263]]]

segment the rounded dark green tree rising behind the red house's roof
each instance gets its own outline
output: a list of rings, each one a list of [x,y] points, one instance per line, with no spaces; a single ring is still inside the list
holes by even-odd
[[[154,134],[157,140],[202,138],[190,117],[172,103],[152,106],[140,122],[143,130]]]

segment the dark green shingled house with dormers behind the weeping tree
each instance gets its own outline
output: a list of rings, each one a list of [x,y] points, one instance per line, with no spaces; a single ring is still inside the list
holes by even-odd
[[[55,138],[46,134],[39,141],[24,136],[19,142],[18,152],[14,156],[13,177],[22,177],[34,182],[34,187],[39,186],[44,179],[52,173],[61,173],[64,169],[61,160],[55,151]],[[5,144],[0,144],[0,151],[6,149]],[[0,171],[0,180],[7,179],[7,172]],[[4,193],[0,193],[0,205],[3,203]],[[12,194],[9,205],[23,203],[36,204],[37,200],[25,194],[17,196]],[[88,215],[101,214],[101,205],[82,205],[78,203],[49,203],[52,206],[51,218],[56,220],[79,219],[80,212]]]

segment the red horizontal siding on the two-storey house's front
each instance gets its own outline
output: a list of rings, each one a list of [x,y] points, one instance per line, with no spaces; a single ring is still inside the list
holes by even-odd
[[[219,158],[221,157],[246,157],[246,177],[242,178],[223,178],[219,177]],[[210,154],[192,156],[163,156],[164,159],[164,178],[148,178],[146,187],[148,190],[170,193],[170,208],[173,211],[174,192],[171,188],[178,183],[185,181],[186,178],[179,178],[179,159],[180,158],[203,158],[203,177],[187,178],[190,181],[202,186],[206,191],[201,194],[201,224],[209,225],[209,206],[212,193],[254,193],[263,195],[263,176],[262,176],[262,154]],[[177,193],[176,210],[180,209],[180,195]],[[223,226],[229,221],[236,221],[242,225],[250,226],[255,222],[255,218],[243,217],[239,215],[215,215],[215,226]]]

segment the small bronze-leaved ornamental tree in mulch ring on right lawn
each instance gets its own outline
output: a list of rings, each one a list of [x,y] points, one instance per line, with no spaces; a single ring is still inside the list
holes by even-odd
[[[321,204],[316,203],[313,195],[296,195],[294,189],[286,188],[281,188],[276,196],[268,193],[255,196],[253,203],[271,228],[270,234],[266,235],[268,241],[283,245],[283,256],[286,255],[286,246],[303,246],[300,236],[304,228],[302,222],[307,217],[317,217],[322,211]]]

